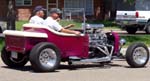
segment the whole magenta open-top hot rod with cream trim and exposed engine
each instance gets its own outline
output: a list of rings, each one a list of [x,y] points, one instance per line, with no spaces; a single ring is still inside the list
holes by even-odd
[[[104,33],[100,27],[80,30],[80,36],[57,32],[49,27],[24,24],[22,31],[5,30],[5,46],[1,53],[9,67],[22,67],[28,61],[34,71],[55,71],[60,62],[109,63],[120,56],[125,40],[113,31]],[[145,44],[130,45],[125,55],[134,68],[144,67],[149,60]]]

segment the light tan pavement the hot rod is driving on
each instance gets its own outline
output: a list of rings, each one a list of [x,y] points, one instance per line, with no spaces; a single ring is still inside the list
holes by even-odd
[[[150,63],[144,68],[130,68],[125,60],[105,66],[63,63],[56,72],[35,73],[30,63],[11,69],[0,59],[0,81],[150,81]]]

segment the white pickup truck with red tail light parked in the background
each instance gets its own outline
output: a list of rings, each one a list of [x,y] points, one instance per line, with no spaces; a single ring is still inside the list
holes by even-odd
[[[150,0],[136,0],[135,10],[117,10],[116,22],[129,34],[144,30],[150,34]]]

